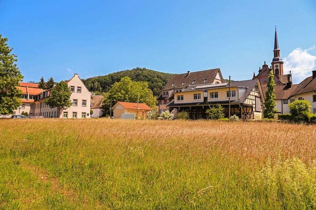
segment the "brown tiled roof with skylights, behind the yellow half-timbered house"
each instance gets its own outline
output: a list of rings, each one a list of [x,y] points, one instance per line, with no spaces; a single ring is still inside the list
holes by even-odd
[[[193,85],[192,83],[194,80],[196,80],[196,83],[194,85],[212,84],[215,80],[217,73],[220,73],[219,68],[190,72],[189,75],[188,75],[188,73],[174,74],[171,76],[171,78],[169,79],[167,84],[164,86],[163,90],[171,90],[171,89],[175,89],[175,88],[185,88],[189,85]],[[220,75],[221,75],[221,73],[220,73]],[[206,83],[203,83],[204,79],[207,79]],[[183,82],[185,82],[184,85],[182,85]],[[174,83],[174,86],[172,86],[173,83]]]

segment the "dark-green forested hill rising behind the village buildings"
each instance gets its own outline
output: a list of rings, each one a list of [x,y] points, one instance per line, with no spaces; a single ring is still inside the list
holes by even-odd
[[[118,71],[105,76],[97,76],[82,80],[84,85],[92,92],[108,92],[115,82],[128,76],[133,81],[146,81],[155,96],[160,94],[172,74],[154,71],[146,68],[133,68],[132,70]]]

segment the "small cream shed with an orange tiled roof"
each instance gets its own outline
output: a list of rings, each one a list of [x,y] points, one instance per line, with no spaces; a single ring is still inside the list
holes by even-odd
[[[113,117],[121,118],[122,114],[135,114],[137,117],[146,118],[147,112],[153,110],[144,103],[131,103],[118,101],[113,107]]]

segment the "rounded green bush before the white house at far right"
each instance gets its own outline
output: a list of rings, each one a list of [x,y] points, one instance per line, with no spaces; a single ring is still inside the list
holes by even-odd
[[[292,119],[296,122],[308,122],[311,115],[311,103],[307,100],[297,100],[288,104]]]

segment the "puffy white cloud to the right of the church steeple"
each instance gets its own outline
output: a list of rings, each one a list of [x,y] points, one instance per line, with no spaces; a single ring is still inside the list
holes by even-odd
[[[291,71],[294,84],[300,83],[305,78],[312,75],[312,69],[316,66],[316,56],[311,55],[309,51],[314,50],[315,48],[316,46],[306,50],[296,48],[283,59],[284,74]]]

